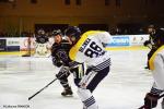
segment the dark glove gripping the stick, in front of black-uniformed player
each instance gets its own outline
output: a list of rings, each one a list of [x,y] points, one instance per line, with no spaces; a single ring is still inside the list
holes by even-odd
[[[62,80],[63,77],[68,77],[70,75],[69,68],[62,66],[58,74],[56,74],[56,77],[58,80]]]

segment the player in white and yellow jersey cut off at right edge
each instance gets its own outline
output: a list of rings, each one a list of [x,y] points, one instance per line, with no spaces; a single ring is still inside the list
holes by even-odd
[[[154,44],[157,47],[157,50],[149,60],[150,70],[152,70],[154,78],[154,84],[150,93],[145,95],[144,106],[142,109],[155,108],[160,95],[164,93],[164,31],[156,29],[154,36]]]

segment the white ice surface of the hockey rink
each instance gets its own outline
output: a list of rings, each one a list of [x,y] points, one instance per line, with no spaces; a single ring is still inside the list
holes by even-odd
[[[149,50],[112,50],[108,76],[93,93],[99,109],[138,109],[152,86],[151,72],[145,70]],[[73,76],[69,80],[73,97],[62,97],[58,81],[36,95],[58,73],[50,58],[0,56],[0,109],[82,109]],[[159,101],[157,108],[161,109]]]

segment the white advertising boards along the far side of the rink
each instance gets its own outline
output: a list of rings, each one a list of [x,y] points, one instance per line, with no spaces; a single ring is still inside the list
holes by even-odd
[[[107,47],[131,47],[142,46],[145,40],[149,39],[149,35],[113,35],[112,40],[108,41]],[[35,48],[35,39],[31,38],[31,48]],[[49,38],[49,44],[54,43],[52,38]],[[27,37],[13,37],[13,38],[0,38],[0,51],[24,51],[28,48]]]

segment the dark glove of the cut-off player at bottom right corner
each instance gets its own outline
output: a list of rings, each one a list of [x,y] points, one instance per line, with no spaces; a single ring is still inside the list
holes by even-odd
[[[144,108],[152,109],[157,105],[160,95],[153,95],[152,93],[148,93],[144,98]]]

